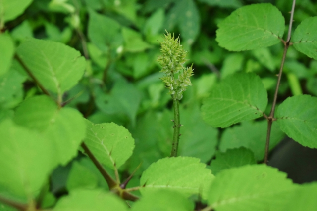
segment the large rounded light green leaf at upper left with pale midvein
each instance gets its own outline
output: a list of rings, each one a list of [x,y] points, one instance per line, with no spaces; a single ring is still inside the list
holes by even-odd
[[[35,78],[58,95],[76,85],[86,68],[80,52],[60,42],[30,39],[17,54]]]

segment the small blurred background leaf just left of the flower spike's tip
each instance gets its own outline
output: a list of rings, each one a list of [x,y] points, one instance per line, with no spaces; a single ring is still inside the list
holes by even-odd
[[[142,35],[139,32],[130,28],[122,28],[122,36],[126,51],[140,52],[152,47],[152,45],[143,41]]]

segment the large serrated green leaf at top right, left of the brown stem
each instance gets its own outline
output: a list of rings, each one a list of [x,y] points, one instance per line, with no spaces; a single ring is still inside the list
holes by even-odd
[[[232,51],[268,47],[280,42],[285,28],[282,13],[270,3],[243,6],[218,24],[216,41]]]

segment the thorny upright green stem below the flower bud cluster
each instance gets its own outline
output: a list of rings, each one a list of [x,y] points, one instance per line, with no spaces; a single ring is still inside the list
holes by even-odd
[[[174,99],[173,97],[173,108],[174,108],[174,135],[173,135],[173,143],[172,143],[172,151],[170,153],[171,157],[177,156],[177,150],[178,150],[178,142],[179,142],[179,103],[177,99]]]

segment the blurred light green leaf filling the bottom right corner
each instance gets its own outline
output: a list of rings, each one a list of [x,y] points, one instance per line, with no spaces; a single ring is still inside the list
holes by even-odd
[[[295,189],[284,211],[313,211],[317,208],[317,183],[306,183]]]

